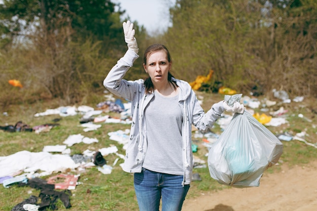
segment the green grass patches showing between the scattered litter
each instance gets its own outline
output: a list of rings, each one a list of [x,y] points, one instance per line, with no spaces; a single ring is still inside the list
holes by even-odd
[[[199,93],[199,96],[204,97],[203,108],[209,109],[210,106],[222,100],[223,96],[217,94]],[[100,97],[102,99],[102,97]],[[307,99],[308,100],[308,99]],[[314,100],[314,99],[312,99]],[[103,100],[100,100],[103,101]],[[284,124],[278,127],[268,126],[267,128],[274,134],[288,132],[291,134],[306,132],[305,139],[307,142],[315,143],[317,140],[317,131],[314,125],[317,124],[314,113],[305,106],[307,102],[299,103],[302,106],[288,105],[289,112],[285,116],[289,121],[288,124]],[[89,105],[95,107],[95,105]],[[61,118],[59,126],[54,127],[50,132],[35,134],[34,132],[16,132],[8,133],[0,130],[0,156],[8,156],[21,150],[27,150],[31,152],[40,152],[44,146],[63,144],[63,141],[67,139],[69,135],[82,134],[85,137],[96,138],[98,143],[92,144],[75,144],[70,147],[71,154],[82,153],[86,149],[98,150],[100,148],[117,146],[118,153],[125,154],[123,146],[115,141],[109,139],[108,133],[130,129],[129,124],[115,124],[115,123],[100,123],[101,128],[97,131],[83,132],[83,128],[80,126],[81,115],[60,117],[59,115],[48,115],[34,117],[37,112],[43,112],[49,108],[57,108],[57,102],[38,102],[32,105],[20,104],[12,105],[3,112],[8,112],[8,116],[2,115],[0,125],[15,124],[17,121],[22,120],[24,123],[30,126],[52,123],[54,118]],[[298,117],[298,114],[303,114],[308,119]],[[109,113],[110,116],[119,116],[117,113]],[[218,125],[215,125],[213,129],[214,133],[220,134],[221,130]],[[195,144],[198,145],[197,152],[194,155],[205,160],[207,164],[208,149],[203,146],[201,139],[193,139]],[[280,158],[280,165],[269,168],[265,174],[274,174],[276,171],[281,170],[281,165],[296,165],[306,164],[312,159],[317,159],[317,149],[308,146],[300,141],[283,142],[284,152]],[[105,157],[107,163],[112,165],[116,155],[110,154]],[[122,171],[120,163],[123,160],[120,159],[116,165],[113,166],[111,174],[105,175],[98,171],[96,166],[86,168],[85,171],[80,172],[79,185],[75,190],[72,190],[70,202],[72,207],[70,210],[138,210],[138,205],[133,188],[133,175]],[[77,172],[69,172],[71,174],[78,174]],[[202,181],[193,181],[191,188],[188,192],[187,199],[192,197],[199,197],[201,193],[210,191],[220,191],[225,188],[230,188],[225,185],[221,185],[213,180],[209,175],[208,167],[206,168],[194,168],[193,173],[199,173]],[[59,174],[59,173],[56,173]],[[54,174],[55,175],[55,174]],[[44,177],[47,179],[49,176]],[[0,187],[0,207],[2,210],[9,211],[16,204],[27,199],[30,195],[38,196],[39,191],[30,187],[18,187],[12,185],[10,188]],[[59,200],[57,203],[58,210],[68,210],[63,206],[63,203]]]

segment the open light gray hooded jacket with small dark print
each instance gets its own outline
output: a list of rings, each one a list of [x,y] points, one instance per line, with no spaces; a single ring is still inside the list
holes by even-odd
[[[130,141],[126,150],[123,170],[129,173],[140,173],[142,170],[143,159],[147,150],[145,119],[143,118],[144,109],[153,97],[152,93],[145,93],[144,80],[125,80],[126,72],[132,67],[133,62],[139,56],[132,50],[128,50],[124,57],[117,61],[112,67],[103,85],[111,93],[131,101],[132,124],[130,131]],[[189,83],[172,78],[176,81],[179,92],[179,105],[183,112],[182,140],[183,140],[183,169],[184,179],[182,185],[189,184],[192,177],[192,149],[191,149],[191,125],[193,124],[202,132],[207,132],[212,128],[215,121],[224,111],[222,101],[216,103],[205,113],[199,104],[195,93]],[[158,129],[160,130],[160,129]],[[162,131],[164,133],[164,131]]]

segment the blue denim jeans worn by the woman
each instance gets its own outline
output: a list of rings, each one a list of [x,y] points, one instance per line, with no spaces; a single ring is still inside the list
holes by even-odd
[[[157,173],[142,168],[134,173],[134,189],[140,211],[180,211],[189,185],[182,186],[183,176]]]

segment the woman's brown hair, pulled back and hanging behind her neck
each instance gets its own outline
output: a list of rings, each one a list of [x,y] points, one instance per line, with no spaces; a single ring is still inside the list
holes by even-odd
[[[168,62],[169,63],[172,62],[171,54],[170,54],[169,50],[166,48],[166,46],[164,46],[162,44],[153,44],[153,45],[147,47],[147,49],[144,52],[144,55],[143,55],[143,63],[144,63],[144,65],[146,65],[148,57],[152,53],[157,52],[157,51],[164,51],[166,53]],[[172,83],[174,89],[176,90],[178,86],[177,86],[175,81],[172,81],[172,77],[174,77],[174,76],[169,72],[167,79],[168,79],[168,81],[170,81]],[[152,83],[152,80],[151,80],[150,77],[147,77],[144,80],[144,86],[145,86],[145,92],[146,93],[152,92],[154,90],[154,86],[153,86],[153,83]]]

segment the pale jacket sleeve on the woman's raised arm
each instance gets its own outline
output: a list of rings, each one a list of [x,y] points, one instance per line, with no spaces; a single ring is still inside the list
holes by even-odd
[[[103,80],[103,86],[114,95],[132,101],[135,93],[138,92],[139,85],[143,82],[142,80],[128,81],[123,77],[138,57],[134,51],[128,50],[124,57],[112,67]]]

